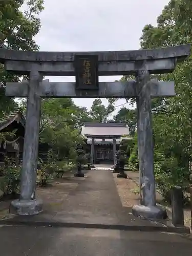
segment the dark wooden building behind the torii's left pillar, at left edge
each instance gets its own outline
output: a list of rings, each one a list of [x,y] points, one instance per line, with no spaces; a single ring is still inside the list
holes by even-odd
[[[22,159],[25,118],[20,110],[5,115],[0,118],[0,133],[14,133],[14,136],[5,136],[5,140],[0,142],[0,164],[4,163],[5,156],[14,158],[17,162]]]

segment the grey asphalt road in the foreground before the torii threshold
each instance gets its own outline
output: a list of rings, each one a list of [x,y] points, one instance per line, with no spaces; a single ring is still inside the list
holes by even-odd
[[[192,240],[176,234],[84,228],[0,227],[2,256],[191,255]]]

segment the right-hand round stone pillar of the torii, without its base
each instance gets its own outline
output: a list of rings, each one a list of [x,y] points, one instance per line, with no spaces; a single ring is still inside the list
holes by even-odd
[[[154,150],[150,97],[150,74],[143,66],[137,75],[137,134],[139,172],[142,182],[142,201],[145,206],[155,206]]]

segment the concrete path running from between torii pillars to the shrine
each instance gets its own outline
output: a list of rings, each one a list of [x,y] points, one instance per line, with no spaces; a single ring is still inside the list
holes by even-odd
[[[71,177],[65,182],[61,184],[61,189],[56,191],[63,200],[56,201],[55,196],[51,199],[47,196],[44,198],[45,210],[42,214],[31,217],[16,216],[13,220],[127,226],[154,225],[150,221],[135,218],[131,213],[131,207],[122,206],[110,170],[90,170],[86,173],[86,178]],[[62,194],[64,187],[69,186],[70,183],[74,185],[74,182],[75,188],[69,190],[68,194],[66,192]],[[55,204],[51,207],[50,200],[52,202],[55,200]]]

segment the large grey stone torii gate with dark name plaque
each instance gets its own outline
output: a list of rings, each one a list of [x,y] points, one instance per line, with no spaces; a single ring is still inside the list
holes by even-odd
[[[35,199],[36,165],[39,139],[41,97],[116,97],[137,98],[139,172],[143,205],[135,205],[133,214],[161,219],[166,212],[156,206],[151,97],[174,96],[174,82],[151,80],[150,74],[173,72],[177,61],[190,54],[190,45],[116,52],[28,52],[0,49],[0,62],[29,81],[8,82],[6,95],[28,97],[19,200],[11,203],[18,215],[42,211]],[[44,75],[76,76],[76,82],[49,82]],[[127,82],[98,82],[103,75],[135,75]]]

